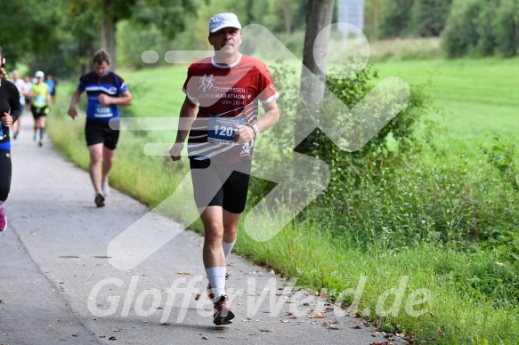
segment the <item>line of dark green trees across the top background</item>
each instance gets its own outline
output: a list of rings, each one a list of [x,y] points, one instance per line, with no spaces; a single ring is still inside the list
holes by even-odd
[[[364,32],[379,39],[442,36],[446,56],[515,56],[519,42],[517,0],[365,0]],[[61,78],[84,73],[101,46],[101,21],[117,21],[120,68],[142,68],[141,54],[205,50],[207,20],[235,12],[244,26],[261,24],[301,56],[305,0],[0,0],[0,45],[8,70],[21,63],[29,74],[45,70]],[[336,5],[337,9],[337,5]],[[13,15],[15,13],[15,15]],[[337,15],[337,10],[335,12]],[[334,21],[335,21],[334,17]],[[417,53],[413,53],[414,56]],[[158,64],[166,63],[159,59]]]

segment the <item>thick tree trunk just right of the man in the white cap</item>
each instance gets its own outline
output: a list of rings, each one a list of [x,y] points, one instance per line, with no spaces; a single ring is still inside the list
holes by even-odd
[[[298,116],[301,121],[296,124],[295,140],[297,152],[309,151],[309,146],[302,143],[313,129],[313,122],[309,119],[309,112],[315,111],[324,97],[326,66],[328,60],[329,29],[316,42],[315,39],[323,28],[331,24],[335,0],[308,0],[306,4],[306,32],[304,34],[303,70],[301,73],[301,85],[299,89],[300,99],[304,105]],[[316,54],[314,59],[314,45]],[[308,140],[307,140],[308,141]],[[301,144],[301,145],[299,145]]]

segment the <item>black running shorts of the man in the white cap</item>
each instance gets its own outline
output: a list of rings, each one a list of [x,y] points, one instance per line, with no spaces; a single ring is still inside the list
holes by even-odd
[[[250,161],[211,164],[190,159],[191,179],[198,208],[222,206],[230,213],[243,213],[247,201]]]

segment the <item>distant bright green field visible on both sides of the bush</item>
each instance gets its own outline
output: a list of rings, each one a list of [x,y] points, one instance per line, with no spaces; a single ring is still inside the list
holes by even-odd
[[[434,105],[442,108],[431,117],[447,129],[435,142],[453,155],[465,151],[470,157],[481,156],[483,143],[496,135],[514,140],[519,132],[519,59],[396,60],[375,62],[374,67],[381,78],[400,76],[408,84],[425,87]],[[174,66],[122,72],[134,92],[134,116],[177,116],[186,70],[187,66]]]

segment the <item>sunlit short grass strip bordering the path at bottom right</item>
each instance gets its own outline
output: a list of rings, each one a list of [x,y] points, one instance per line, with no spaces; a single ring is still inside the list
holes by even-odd
[[[488,269],[481,279],[503,277],[513,269],[506,266],[509,263],[498,266],[495,253],[463,253],[455,245],[427,243],[397,252],[376,245],[368,251],[354,248],[354,244],[321,232],[320,225],[312,220],[291,224],[269,242],[239,237],[240,253],[298,277],[299,285],[321,294],[320,289],[327,289],[331,296],[336,294],[334,290],[356,289],[365,277],[359,310],[364,317],[375,317],[376,324],[386,332],[410,332],[419,340],[444,343],[470,343],[477,337],[492,343],[499,343],[499,336],[508,341],[517,339],[519,308],[499,308],[499,301],[474,293],[468,283],[477,278],[476,269]],[[493,274],[496,269],[501,272]],[[381,303],[385,292],[399,287],[404,291],[400,304],[394,296]],[[410,307],[418,289],[431,293],[430,300]],[[393,313],[376,316],[393,305]],[[414,312],[420,310],[425,313],[415,317]]]

